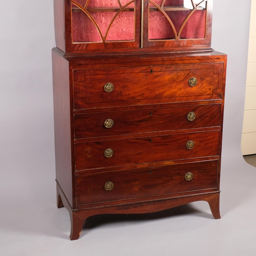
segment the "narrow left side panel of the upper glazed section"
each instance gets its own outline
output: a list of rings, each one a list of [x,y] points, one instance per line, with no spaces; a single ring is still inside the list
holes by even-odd
[[[65,52],[65,20],[63,0],[54,0],[53,7],[56,46],[61,51]]]

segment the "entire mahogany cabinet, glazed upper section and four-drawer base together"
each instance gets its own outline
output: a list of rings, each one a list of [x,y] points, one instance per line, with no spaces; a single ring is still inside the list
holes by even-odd
[[[54,0],[57,207],[69,210],[71,240],[98,214],[203,200],[220,218],[227,56],[210,48],[212,0],[161,1]],[[108,41],[121,16],[102,28],[94,12],[111,10],[134,15],[133,40],[130,31]],[[158,15],[172,30],[164,38],[152,25]]]

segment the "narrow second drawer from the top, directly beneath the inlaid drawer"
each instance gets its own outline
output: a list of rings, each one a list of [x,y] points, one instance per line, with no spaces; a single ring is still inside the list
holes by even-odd
[[[196,129],[220,124],[221,104],[74,115],[75,139]]]

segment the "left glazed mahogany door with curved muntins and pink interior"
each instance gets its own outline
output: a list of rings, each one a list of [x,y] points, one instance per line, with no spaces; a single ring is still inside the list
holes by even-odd
[[[71,0],[65,9],[71,10],[72,50],[140,47],[139,0]]]

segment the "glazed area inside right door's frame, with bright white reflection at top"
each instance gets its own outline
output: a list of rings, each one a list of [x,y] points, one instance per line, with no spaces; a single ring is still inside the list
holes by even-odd
[[[201,3],[202,0],[166,0],[162,11],[154,5],[156,2],[158,5],[162,4],[161,0],[150,3],[149,39],[205,38],[206,2]]]

